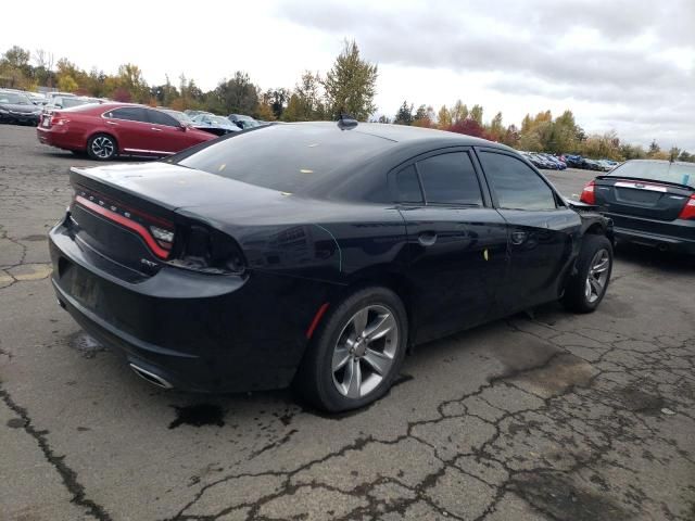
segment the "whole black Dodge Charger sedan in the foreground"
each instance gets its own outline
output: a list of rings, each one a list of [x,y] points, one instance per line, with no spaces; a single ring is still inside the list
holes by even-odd
[[[409,346],[558,298],[592,312],[610,278],[609,219],[457,134],[268,126],[71,182],[58,300],[164,387],[361,407]]]

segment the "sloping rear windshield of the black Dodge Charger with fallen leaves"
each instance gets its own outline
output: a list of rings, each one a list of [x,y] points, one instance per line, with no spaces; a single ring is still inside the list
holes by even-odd
[[[182,166],[289,193],[376,155],[393,141],[340,130],[336,124],[261,127],[215,142],[179,162]]]

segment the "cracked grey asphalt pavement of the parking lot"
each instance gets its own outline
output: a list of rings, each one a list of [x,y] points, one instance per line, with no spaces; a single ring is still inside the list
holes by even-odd
[[[379,403],[323,417],[160,391],[79,330],[46,242],[76,164],[0,126],[0,519],[695,519],[695,259],[621,247],[597,313],[422,346]]]

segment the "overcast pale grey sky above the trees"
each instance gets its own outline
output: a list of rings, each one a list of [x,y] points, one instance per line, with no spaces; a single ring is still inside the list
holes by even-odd
[[[379,114],[403,100],[439,110],[462,99],[505,124],[565,109],[589,132],[695,151],[695,0],[421,2],[265,0],[34,1],[0,31],[83,68],[139,65],[146,79],[185,73],[203,89],[241,69],[263,89],[325,73],[344,38],[379,65]],[[197,7],[200,11],[197,11]],[[39,23],[47,20],[46,23]],[[20,23],[21,21],[21,23]],[[9,23],[10,22],[10,23]]]

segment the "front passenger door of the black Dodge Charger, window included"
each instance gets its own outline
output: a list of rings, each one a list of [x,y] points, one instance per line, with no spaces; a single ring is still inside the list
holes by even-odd
[[[498,149],[477,152],[494,204],[508,226],[505,313],[557,298],[579,247],[581,218],[515,154]]]

